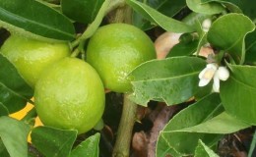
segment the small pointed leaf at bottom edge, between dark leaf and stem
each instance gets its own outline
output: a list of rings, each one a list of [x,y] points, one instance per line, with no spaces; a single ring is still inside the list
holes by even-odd
[[[80,143],[70,154],[69,157],[79,157],[79,156],[90,156],[98,157],[98,142],[100,134],[90,136],[85,141]]]

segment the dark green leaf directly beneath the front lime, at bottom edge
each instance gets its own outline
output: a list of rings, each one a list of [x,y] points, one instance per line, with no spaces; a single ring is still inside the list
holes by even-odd
[[[43,155],[51,157],[69,156],[76,140],[77,131],[37,127],[32,130],[32,144]]]

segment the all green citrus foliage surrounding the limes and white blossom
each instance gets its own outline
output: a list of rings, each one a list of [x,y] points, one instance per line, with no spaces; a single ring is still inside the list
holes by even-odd
[[[129,75],[133,78],[129,98],[145,107],[151,100],[178,105],[193,98],[194,103],[160,131],[156,155],[215,157],[218,155],[211,148],[222,135],[256,125],[256,11],[252,3],[249,0],[0,0],[0,27],[41,40],[76,44],[89,39],[98,26],[104,25],[110,11],[126,5],[132,10],[131,25],[143,30],[158,26],[186,34],[166,59],[152,60],[133,70]],[[205,27],[205,20],[212,25]],[[77,23],[86,29],[81,32],[75,27]],[[78,47],[86,49],[86,42],[81,43]],[[213,47],[214,56],[199,56],[205,45]],[[85,49],[80,49],[82,58]],[[76,53],[74,49],[73,54]],[[223,81],[220,75],[219,78],[215,75],[205,87],[199,86],[199,75],[202,79],[205,74],[201,72],[213,62],[217,70],[224,67],[229,77]],[[216,81],[221,81],[217,92],[212,90]],[[75,144],[77,131],[32,129],[29,126],[32,116],[26,121],[7,117],[21,110],[32,95],[33,89],[0,55],[0,156],[29,156],[29,131],[32,144],[45,156],[98,156],[99,133]]]

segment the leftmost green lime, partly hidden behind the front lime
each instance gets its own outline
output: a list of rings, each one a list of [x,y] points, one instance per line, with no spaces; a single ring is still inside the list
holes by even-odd
[[[11,35],[1,47],[1,53],[17,68],[20,75],[34,87],[41,72],[70,55],[67,43],[50,43]]]

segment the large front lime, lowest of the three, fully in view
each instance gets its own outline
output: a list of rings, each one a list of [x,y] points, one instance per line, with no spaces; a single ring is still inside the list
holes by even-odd
[[[104,88],[92,66],[65,58],[38,79],[34,103],[43,125],[83,133],[93,129],[103,114]]]

